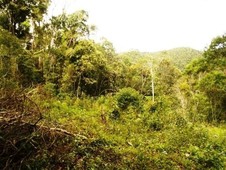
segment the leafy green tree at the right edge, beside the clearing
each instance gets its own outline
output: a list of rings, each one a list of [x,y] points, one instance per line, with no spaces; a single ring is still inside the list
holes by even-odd
[[[186,73],[192,77],[193,93],[203,93],[208,99],[207,119],[225,120],[226,36],[214,38],[203,58],[189,64]]]

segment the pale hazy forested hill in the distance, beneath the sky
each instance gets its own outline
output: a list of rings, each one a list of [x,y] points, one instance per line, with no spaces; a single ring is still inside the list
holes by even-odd
[[[158,52],[139,52],[130,51],[125,53],[120,53],[119,58],[124,58],[130,62],[138,62],[140,59],[153,60],[154,63],[158,64],[163,59],[169,60],[180,70],[183,70],[185,66],[195,58],[201,58],[202,52],[188,48],[179,47],[170,50],[163,50]]]

